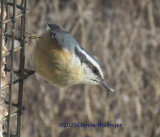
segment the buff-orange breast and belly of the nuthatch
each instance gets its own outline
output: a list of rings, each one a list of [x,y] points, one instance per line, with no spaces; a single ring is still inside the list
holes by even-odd
[[[53,39],[42,38],[34,50],[35,70],[56,87],[71,86],[84,79],[81,66],[72,65],[72,58],[72,53],[61,49]]]

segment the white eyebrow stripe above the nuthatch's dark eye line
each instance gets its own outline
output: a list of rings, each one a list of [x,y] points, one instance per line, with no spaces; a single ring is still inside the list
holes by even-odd
[[[95,66],[97,67],[97,69],[99,70],[100,75],[102,76],[102,78],[104,78],[103,72],[101,67],[99,66],[99,64],[97,63],[97,61],[95,59],[93,59],[93,57],[91,57],[90,55],[88,55],[88,53],[85,50],[82,50],[80,47],[78,47],[79,51],[84,54],[86,56],[86,58]]]

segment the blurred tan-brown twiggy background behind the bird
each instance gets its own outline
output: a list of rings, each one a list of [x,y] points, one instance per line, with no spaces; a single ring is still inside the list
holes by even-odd
[[[37,74],[25,81],[22,137],[159,137],[160,1],[30,0],[27,31],[46,22],[69,31],[99,60],[117,93],[100,86],[58,89]],[[36,40],[28,39],[26,68]],[[122,128],[63,128],[61,122],[122,124]]]

